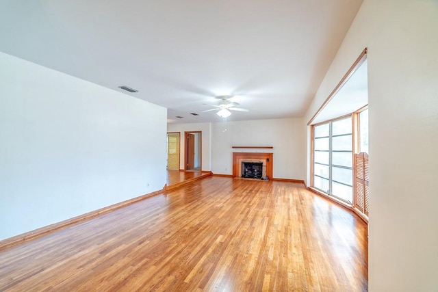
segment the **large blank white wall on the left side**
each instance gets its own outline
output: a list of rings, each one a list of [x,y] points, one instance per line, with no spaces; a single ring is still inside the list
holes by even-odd
[[[166,109],[0,53],[0,239],[162,189]]]

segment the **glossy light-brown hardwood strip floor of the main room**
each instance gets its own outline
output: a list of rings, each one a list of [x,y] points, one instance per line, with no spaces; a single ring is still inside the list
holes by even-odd
[[[366,225],[298,184],[209,176],[0,252],[0,291],[367,291]]]

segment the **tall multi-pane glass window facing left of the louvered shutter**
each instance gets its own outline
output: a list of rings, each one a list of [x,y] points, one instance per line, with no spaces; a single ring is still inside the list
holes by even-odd
[[[313,137],[313,187],[351,204],[351,116],[315,125]]]

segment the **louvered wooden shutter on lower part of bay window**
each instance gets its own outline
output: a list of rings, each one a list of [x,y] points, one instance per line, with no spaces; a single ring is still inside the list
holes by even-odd
[[[370,171],[368,169],[368,154],[361,152],[355,155],[355,200],[354,206],[368,216],[370,210]]]

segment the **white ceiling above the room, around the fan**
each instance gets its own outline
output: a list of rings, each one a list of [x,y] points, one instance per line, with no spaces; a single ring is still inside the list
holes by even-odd
[[[3,0],[0,51],[168,108],[176,122],[305,113],[362,0]],[[195,112],[200,116],[191,116]],[[177,119],[175,116],[183,116]]]

